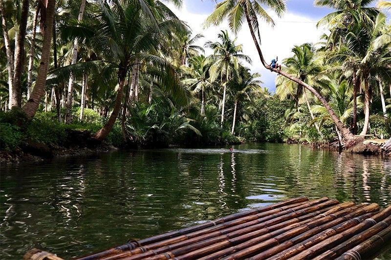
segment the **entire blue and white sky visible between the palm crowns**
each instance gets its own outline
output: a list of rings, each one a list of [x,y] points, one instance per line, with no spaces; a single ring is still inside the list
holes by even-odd
[[[261,22],[261,50],[267,62],[270,62],[276,56],[281,61],[291,57],[294,45],[301,45],[306,42],[319,42],[320,36],[326,32],[325,28],[316,28],[316,23],[326,14],[333,10],[329,8],[319,8],[313,6],[313,0],[285,0],[287,12],[282,18],[278,18],[269,9],[269,15],[273,18],[276,25],[271,26]],[[177,9],[172,4],[167,4],[177,15],[185,21],[193,31],[193,34],[201,33],[205,38],[198,40],[197,45],[203,46],[207,40],[217,41],[217,34],[220,30],[229,30],[228,23],[222,22],[219,26],[204,29],[203,22],[213,12],[214,3],[212,0],[183,0],[181,9]],[[232,38],[235,35],[231,33]],[[271,92],[275,91],[276,73],[265,69],[250,31],[246,24],[243,24],[241,31],[236,36],[237,44],[243,45],[243,53],[249,56],[253,63],[247,64],[253,73],[261,73],[262,86],[269,88]],[[212,54],[212,50],[206,49],[206,55]]]

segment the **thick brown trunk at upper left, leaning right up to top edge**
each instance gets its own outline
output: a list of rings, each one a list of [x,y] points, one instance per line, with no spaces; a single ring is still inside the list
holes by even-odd
[[[55,13],[55,0],[47,0],[46,7],[46,19],[44,24],[43,44],[41,63],[38,69],[37,80],[35,81],[35,87],[31,92],[30,99],[27,100],[26,105],[23,107],[24,112],[32,118],[37,112],[40,100],[44,94],[44,88],[46,84],[47,69],[50,58],[50,45],[52,40],[53,18]]]

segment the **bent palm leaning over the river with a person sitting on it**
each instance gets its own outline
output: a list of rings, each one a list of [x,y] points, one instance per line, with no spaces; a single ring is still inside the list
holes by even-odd
[[[216,5],[215,11],[207,18],[205,21],[205,26],[209,26],[211,24],[218,25],[220,24],[225,17],[228,17],[228,22],[230,25],[231,30],[234,31],[234,33],[237,33],[241,25],[244,21],[247,21],[247,25],[250,29],[251,36],[253,38],[254,44],[257,48],[258,55],[260,57],[260,60],[263,64],[263,66],[271,71],[277,72],[278,74],[288,78],[289,80],[292,80],[300,85],[302,85],[304,88],[309,90],[311,93],[313,93],[326,107],[328,113],[330,114],[330,117],[333,119],[334,123],[337,125],[337,127],[340,129],[344,139],[346,140],[353,140],[354,136],[349,131],[349,129],[339,120],[336,113],[333,111],[333,109],[330,107],[330,105],[327,103],[327,100],[312,86],[305,83],[303,80],[300,80],[282,70],[273,69],[269,66],[268,63],[266,63],[260,44],[258,42],[257,36],[260,39],[261,34],[259,31],[259,22],[258,18],[260,17],[263,20],[266,20],[269,24],[274,25],[274,21],[271,19],[271,17],[267,14],[267,12],[264,10],[264,8],[261,6],[261,3],[265,4],[266,6],[270,7],[273,11],[277,13],[279,17],[282,16],[282,13],[285,11],[286,6],[283,0],[265,0],[265,1],[259,1],[259,0],[224,0]],[[350,145],[350,144],[349,144]]]

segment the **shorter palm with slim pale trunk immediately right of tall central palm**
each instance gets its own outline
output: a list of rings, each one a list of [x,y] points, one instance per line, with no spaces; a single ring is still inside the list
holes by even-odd
[[[260,84],[263,83],[259,78],[261,74],[249,72],[249,69],[240,66],[239,78],[234,78],[229,82],[229,87],[234,98],[234,118],[232,121],[231,134],[235,132],[236,113],[238,110],[238,104],[245,101],[252,101],[255,95],[263,93],[263,89]],[[263,93],[264,94],[264,93]]]

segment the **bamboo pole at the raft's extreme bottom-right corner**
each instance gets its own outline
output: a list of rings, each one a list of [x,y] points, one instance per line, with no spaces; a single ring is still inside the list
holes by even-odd
[[[374,255],[380,253],[381,249],[384,249],[385,241],[391,241],[391,226],[345,252],[336,260],[360,260],[373,258],[375,257]]]

